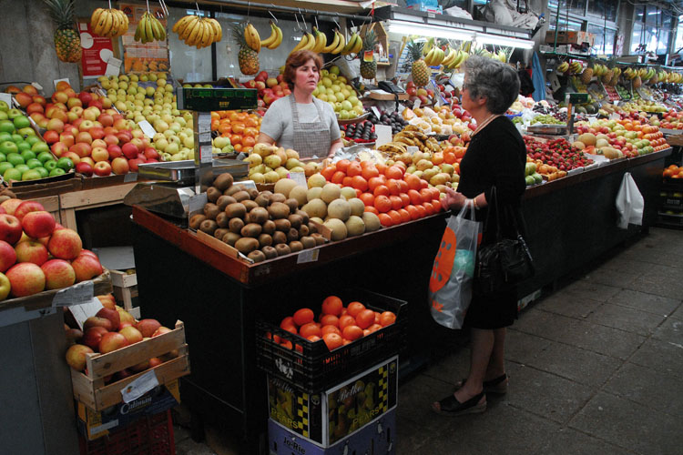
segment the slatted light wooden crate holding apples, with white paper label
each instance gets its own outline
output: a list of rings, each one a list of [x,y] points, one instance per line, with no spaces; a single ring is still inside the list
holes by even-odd
[[[185,342],[185,325],[176,322],[176,329],[152,339],[117,349],[108,354],[88,354],[87,374],[71,369],[71,384],[74,398],[91,410],[104,410],[122,401],[121,390],[138,379],[149,369],[105,384],[105,378],[122,369],[142,363],[152,357],[160,357],[172,350],[178,350],[178,357],[167,360],[153,370],[159,384],[166,384],[173,379],[189,374],[188,345]]]

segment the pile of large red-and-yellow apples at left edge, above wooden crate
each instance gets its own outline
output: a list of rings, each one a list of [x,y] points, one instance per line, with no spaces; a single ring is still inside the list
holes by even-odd
[[[9,198],[0,204],[0,300],[67,288],[100,274],[95,253],[40,203]]]

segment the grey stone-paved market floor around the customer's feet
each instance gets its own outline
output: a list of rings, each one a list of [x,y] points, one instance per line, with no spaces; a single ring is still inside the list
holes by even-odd
[[[430,410],[466,376],[466,343],[403,381],[397,453],[683,453],[682,240],[651,228],[525,308],[508,331],[508,392],[483,414]],[[236,453],[208,440],[176,427],[178,455]]]

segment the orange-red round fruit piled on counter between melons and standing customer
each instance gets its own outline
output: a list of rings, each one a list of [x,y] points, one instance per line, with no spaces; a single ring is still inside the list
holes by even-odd
[[[321,174],[331,183],[355,188],[365,211],[377,215],[384,227],[441,211],[439,190],[420,177],[406,174],[400,161],[387,167],[342,159],[322,169]]]

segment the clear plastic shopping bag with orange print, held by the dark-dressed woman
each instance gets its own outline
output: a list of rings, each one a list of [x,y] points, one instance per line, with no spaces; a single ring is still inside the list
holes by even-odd
[[[461,329],[472,300],[472,280],[479,223],[474,207],[466,204],[457,217],[448,219],[429,279],[429,304],[433,319],[443,327]]]

